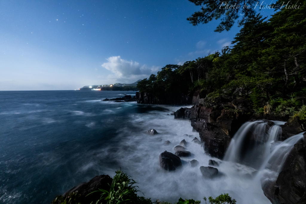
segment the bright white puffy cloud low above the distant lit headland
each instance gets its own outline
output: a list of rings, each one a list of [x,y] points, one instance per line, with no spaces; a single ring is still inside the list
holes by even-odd
[[[114,81],[114,83],[132,83],[139,79],[148,78],[160,69],[156,66],[140,65],[132,60],[127,61],[121,59],[120,56],[108,57],[106,60],[107,62],[101,66],[114,73],[108,76],[108,79]]]

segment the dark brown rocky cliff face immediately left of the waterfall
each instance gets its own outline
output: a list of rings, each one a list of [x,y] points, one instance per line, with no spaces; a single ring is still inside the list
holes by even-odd
[[[205,103],[204,99],[193,97],[193,102],[201,100]],[[209,108],[199,103],[191,108],[177,110],[174,118],[189,119],[191,126],[199,132],[200,139],[204,142],[205,152],[222,159],[233,135],[252,116],[248,104],[245,98],[237,98]]]

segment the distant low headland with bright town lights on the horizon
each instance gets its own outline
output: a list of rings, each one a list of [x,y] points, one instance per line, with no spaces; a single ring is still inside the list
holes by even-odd
[[[113,83],[105,85],[91,85],[79,88],[80,91],[139,91],[136,87],[137,83],[141,80],[137,80],[134,83]]]

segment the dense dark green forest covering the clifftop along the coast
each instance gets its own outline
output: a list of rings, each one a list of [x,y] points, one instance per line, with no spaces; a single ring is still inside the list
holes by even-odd
[[[252,102],[254,113],[264,111],[306,120],[306,1],[298,9],[285,7],[269,20],[248,18],[231,47],[220,52],[166,65],[137,84],[156,100],[165,95],[200,91],[205,106],[237,96]]]

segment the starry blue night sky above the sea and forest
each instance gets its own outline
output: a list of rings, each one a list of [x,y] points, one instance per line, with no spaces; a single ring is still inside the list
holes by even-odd
[[[1,0],[0,91],[133,83],[231,46],[240,28],[193,26],[198,10],[188,0]]]

